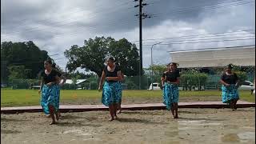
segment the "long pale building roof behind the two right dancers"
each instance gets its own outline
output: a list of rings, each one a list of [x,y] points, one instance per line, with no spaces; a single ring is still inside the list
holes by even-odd
[[[255,46],[170,51],[170,62],[177,62],[180,68],[218,67],[230,63],[237,66],[255,66]]]

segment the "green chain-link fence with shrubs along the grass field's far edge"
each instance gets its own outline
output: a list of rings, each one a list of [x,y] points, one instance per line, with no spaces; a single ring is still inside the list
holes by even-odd
[[[139,87],[139,76],[129,76],[122,81],[123,90],[159,90],[161,87],[161,75],[142,76],[141,87]],[[178,87],[180,90],[219,90],[220,75],[209,74],[182,74]],[[254,75],[246,75],[246,81],[253,82]],[[81,83],[66,83],[62,90],[97,90],[99,78],[88,78]],[[2,87],[12,89],[39,89],[38,79],[14,79],[2,84]]]

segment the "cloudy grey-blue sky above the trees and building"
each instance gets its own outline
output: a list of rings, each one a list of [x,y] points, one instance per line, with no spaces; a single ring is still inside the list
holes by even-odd
[[[170,61],[167,51],[254,45],[254,0],[144,0],[143,66]],[[63,52],[96,36],[138,46],[133,0],[2,0],[1,42],[33,41],[65,69]]]

